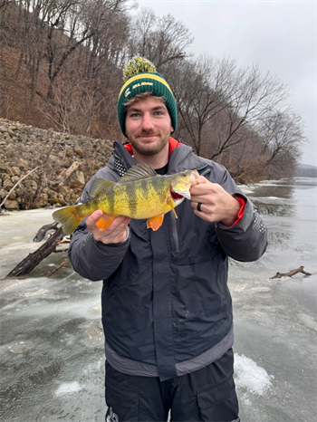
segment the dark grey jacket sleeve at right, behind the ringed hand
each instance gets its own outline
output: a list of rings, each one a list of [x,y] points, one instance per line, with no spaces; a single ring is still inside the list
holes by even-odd
[[[255,205],[235,185],[227,171],[219,184],[233,197],[245,199],[245,214],[238,224],[226,227],[222,223],[216,223],[216,235],[220,245],[225,253],[236,261],[256,261],[264,254],[267,246],[266,226]]]

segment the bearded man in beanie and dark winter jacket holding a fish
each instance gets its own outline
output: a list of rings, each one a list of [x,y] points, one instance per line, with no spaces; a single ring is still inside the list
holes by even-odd
[[[74,269],[103,280],[106,421],[166,422],[170,410],[173,422],[238,422],[228,256],[258,259],[265,226],[226,168],[170,137],[177,107],[154,65],[136,58],[125,73],[118,117],[129,143],[115,142],[91,180],[116,182],[137,163],[159,174],[197,169],[200,177],[178,219],[168,213],[157,231],[124,216],[101,231],[97,210],[72,235]]]

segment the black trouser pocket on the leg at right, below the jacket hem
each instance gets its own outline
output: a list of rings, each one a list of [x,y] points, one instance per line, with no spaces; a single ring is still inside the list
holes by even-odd
[[[197,390],[202,422],[239,422],[233,376],[219,384]]]

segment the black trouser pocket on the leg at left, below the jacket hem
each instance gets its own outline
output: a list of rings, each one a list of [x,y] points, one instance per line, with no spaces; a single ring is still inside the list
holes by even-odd
[[[119,421],[139,422],[138,390],[123,388],[106,377],[106,403]]]

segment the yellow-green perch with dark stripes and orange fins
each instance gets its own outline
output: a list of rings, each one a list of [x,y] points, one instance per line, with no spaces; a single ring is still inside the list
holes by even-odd
[[[146,164],[138,164],[117,183],[96,178],[89,190],[91,200],[58,209],[53,213],[53,219],[62,225],[65,235],[71,235],[83,218],[101,209],[103,216],[96,223],[101,230],[105,230],[115,217],[128,216],[146,219],[147,227],[155,231],[169,211],[178,218],[175,208],[185,198],[190,199],[189,189],[198,177],[197,170],[161,176]]]

